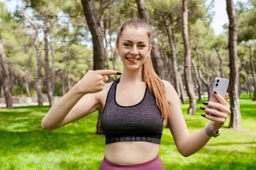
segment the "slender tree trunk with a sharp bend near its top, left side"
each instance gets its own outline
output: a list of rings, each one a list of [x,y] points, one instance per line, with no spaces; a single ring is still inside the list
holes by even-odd
[[[39,47],[38,42],[38,26],[32,21],[29,16],[26,14],[26,8],[29,6],[28,1],[26,0],[26,6],[23,8],[23,15],[26,20],[34,27],[35,29],[35,38],[34,38],[34,45],[36,50],[36,57],[37,57],[37,79],[36,79],[36,92],[38,97],[38,106],[43,106],[43,92],[42,92],[42,69],[41,69],[41,50]]]

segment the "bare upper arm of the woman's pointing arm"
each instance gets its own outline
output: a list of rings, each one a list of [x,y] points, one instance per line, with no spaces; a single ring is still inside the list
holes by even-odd
[[[96,93],[85,94],[76,105],[70,110],[58,127],[62,127],[78,119],[81,119],[99,108],[99,102]],[[57,128],[58,128],[57,127]]]

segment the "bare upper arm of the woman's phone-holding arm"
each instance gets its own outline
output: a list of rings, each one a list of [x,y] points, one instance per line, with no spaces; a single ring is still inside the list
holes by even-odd
[[[189,135],[189,130],[181,110],[180,98],[177,95],[175,88],[165,80],[163,80],[163,84],[166,89],[166,97],[169,103],[170,117],[168,120],[168,126],[177,149],[179,150],[180,143]]]

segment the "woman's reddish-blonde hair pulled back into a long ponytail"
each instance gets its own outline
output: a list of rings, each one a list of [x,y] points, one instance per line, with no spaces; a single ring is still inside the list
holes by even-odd
[[[151,31],[151,25],[148,24],[147,20],[130,19],[125,21],[117,34],[116,42],[119,43],[119,37],[122,35],[122,31],[127,26],[135,26],[135,28],[148,29],[147,35],[149,37],[149,44],[151,43],[151,37],[153,32]],[[157,76],[154,71],[153,64],[150,56],[147,57],[145,63],[142,65],[142,76],[148,86],[149,91],[153,92],[158,108],[161,111],[162,119],[164,120],[164,126],[167,125],[169,119],[169,104],[166,98],[166,90],[163,81]]]

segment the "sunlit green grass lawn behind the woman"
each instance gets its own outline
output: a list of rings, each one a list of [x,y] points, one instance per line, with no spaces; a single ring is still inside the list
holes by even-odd
[[[207,99],[203,99],[202,102]],[[190,133],[203,128],[209,120],[187,115]],[[166,170],[256,170],[256,102],[241,95],[241,129],[221,128],[197,153],[187,158],[178,153],[169,128],[164,128],[159,156]],[[1,170],[99,170],[104,157],[105,137],[96,135],[97,113],[53,131],[41,129],[41,119],[49,107],[0,109]]]

